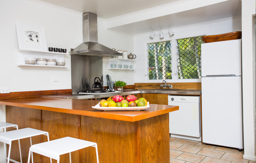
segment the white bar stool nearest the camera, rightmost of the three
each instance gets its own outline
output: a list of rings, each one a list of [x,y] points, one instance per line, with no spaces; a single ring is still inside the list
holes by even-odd
[[[76,139],[73,137],[63,137],[49,142],[34,144],[29,148],[28,163],[30,161],[30,154],[32,152],[38,153],[57,160],[60,162],[60,155],[69,153],[69,162],[71,163],[71,152],[83,149],[86,147],[95,147],[97,163],[99,163],[97,143],[89,142],[86,140]],[[32,157],[33,163],[33,157]]]

